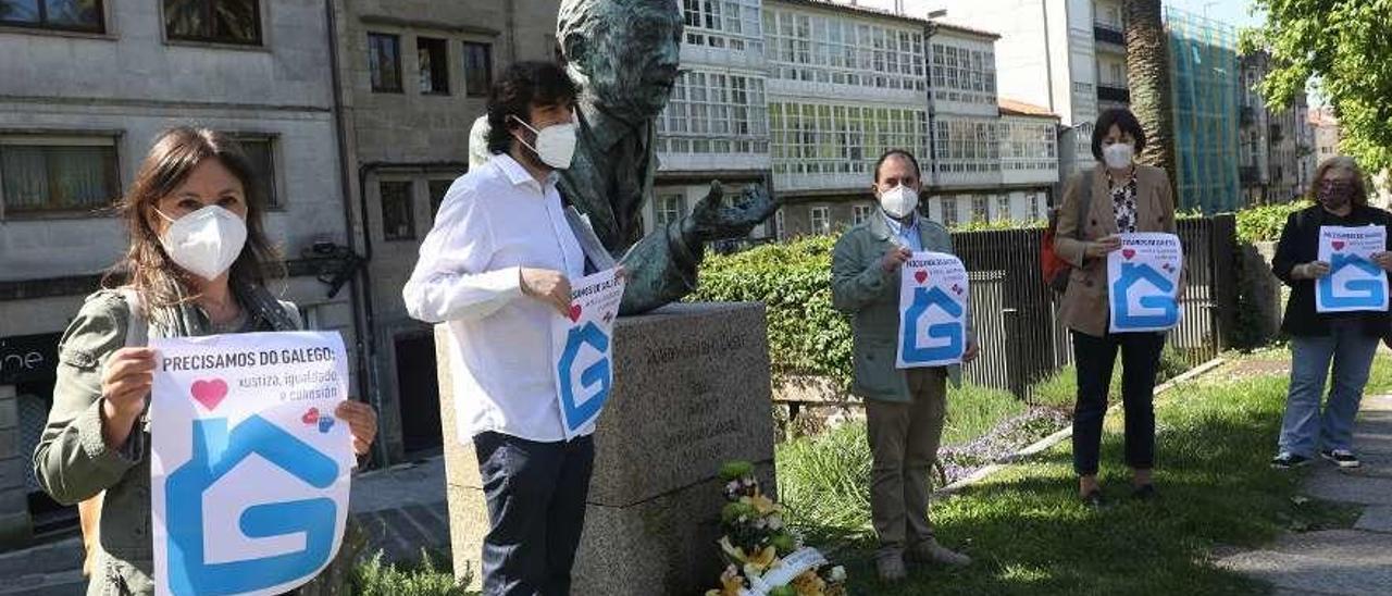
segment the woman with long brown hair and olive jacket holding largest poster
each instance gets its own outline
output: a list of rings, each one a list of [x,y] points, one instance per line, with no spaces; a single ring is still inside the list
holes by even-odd
[[[100,500],[89,595],[155,592],[148,405],[156,352],[145,340],[302,326],[295,305],[267,290],[280,260],[253,171],[223,134],[161,134],[120,205],[131,237],[125,258],[58,344],[53,409],[33,466],[54,500]],[[365,454],[377,432],[373,409],[344,401],[335,415]]]

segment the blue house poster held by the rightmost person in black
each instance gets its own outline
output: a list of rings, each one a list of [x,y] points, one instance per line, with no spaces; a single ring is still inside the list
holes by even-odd
[[[1386,311],[1388,274],[1373,262],[1386,242],[1382,226],[1320,226],[1318,259],[1329,274],[1315,281],[1315,312]]]

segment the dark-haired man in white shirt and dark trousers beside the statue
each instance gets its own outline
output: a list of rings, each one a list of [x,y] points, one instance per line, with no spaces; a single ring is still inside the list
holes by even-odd
[[[487,596],[568,595],[594,460],[593,428],[567,441],[553,317],[586,258],[555,189],[575,148],[576,85],[518,63],[489,99],[487,163],[454,181],[402,295],[448,323],[459,440],[473,439],[489,505]]]

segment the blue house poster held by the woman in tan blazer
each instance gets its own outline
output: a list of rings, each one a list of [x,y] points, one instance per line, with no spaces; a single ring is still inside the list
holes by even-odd
[[[1179,324],[1179,284],[1185,249],[1165,233],[1121,234],[1122,248],[1107,255],[1107,309],[1111,333],[1165,331]]]

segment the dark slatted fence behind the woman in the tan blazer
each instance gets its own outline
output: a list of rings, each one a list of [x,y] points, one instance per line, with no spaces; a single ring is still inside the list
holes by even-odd
[[[1044,230],[952,234],[972,283],[972,312],[981,356],[966,377],[1023,400],[1031,387],[1073,361],[1072,338],[1058,317],[1058,297],[1040,274]],[[1179,326],[1169,345],[1190,363],[1212,359],[1231,345],[1237,280],[1236,220],[1232,214],[1179,221],[1185,246],[1185,291]]]

